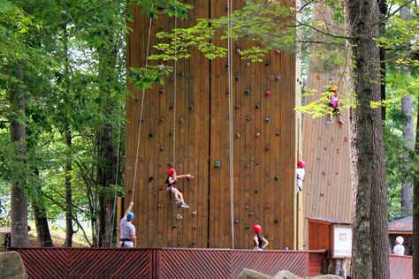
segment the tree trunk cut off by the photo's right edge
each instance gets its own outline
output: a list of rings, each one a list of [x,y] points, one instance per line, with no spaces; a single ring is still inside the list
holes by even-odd
[[[419,104],[419,102],[418,102]],[[415,187],[413,188],[413,277],[419,279],[419,109],[417,109],[416,123],[416,168],[415,168]]]

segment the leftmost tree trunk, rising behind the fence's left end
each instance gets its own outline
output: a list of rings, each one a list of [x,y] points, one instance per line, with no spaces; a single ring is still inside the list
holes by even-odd
[[[19,69],[19,75],[21,69]],[[16,155],[22,167],[25,165],[26,147],[26,101],[19,89],[9,92],[11,109],[11,142],[18,142],[19,152]],[[19,176],[18,176],[19,177]],[[27,233],[27,195],[24,190],[25,178],[20,176],[11,184],[11,246],[28,247],[29,236]]]

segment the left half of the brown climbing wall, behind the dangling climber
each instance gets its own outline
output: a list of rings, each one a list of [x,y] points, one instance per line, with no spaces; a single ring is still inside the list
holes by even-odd
[[[195,5],[187,20],[178,20],[178,27],[192,26],[196,19],[207,18],[208,9],[208,5]],[[149,18],[135,7],[133,19],[133,32],[128,36],[128,67],[144,66]],[[156,44],[157,32],[170,31],[174,26],[174,19],[164,16],[153,21],[150,44]],[[150,53],[154,51],[151,49]],[[207,245],[209,61],[197,51],[193,56],[191,60],[180,60],[176,73],[171,72],[164,85],[145,91],[138,157],[141,92],[129,87],[134,97],[127,100],[126,204],[134,192],[138,246]],[[177,207],[174,198],[169,200],[166,191],[166,171],[173,156],[179,174],[190,172],[195,177],[178,184],[191,206],[187,211]]]

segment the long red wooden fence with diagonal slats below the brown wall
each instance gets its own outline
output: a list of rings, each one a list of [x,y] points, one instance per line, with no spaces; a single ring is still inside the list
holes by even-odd
[[[230,249],[11,248],[29,278],[237,278],[243,268],[266,275],[321,274],[323,251]],[[319,264],[320,263],[320,264]]]

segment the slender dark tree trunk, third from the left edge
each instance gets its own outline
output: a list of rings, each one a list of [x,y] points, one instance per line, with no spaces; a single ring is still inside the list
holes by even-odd
[[[65,247],[72,246],[72,132],[65,132],[67,160],[65,162]]]

